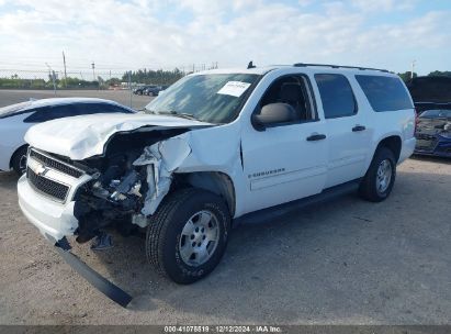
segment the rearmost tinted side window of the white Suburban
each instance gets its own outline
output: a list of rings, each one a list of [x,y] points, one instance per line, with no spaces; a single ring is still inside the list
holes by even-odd
[[[359,75],[356,79],[376,112],[414,108],[399,78]]]

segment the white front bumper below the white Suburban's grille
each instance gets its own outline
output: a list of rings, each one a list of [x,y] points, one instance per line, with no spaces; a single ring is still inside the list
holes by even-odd
[[[74,216],[74,201],[58,203],[36,192],[27,182],[26,176],[18,181],[19,207],[25,218],[35,225],[47,240],[59,241],[72,235],[78,227]]]

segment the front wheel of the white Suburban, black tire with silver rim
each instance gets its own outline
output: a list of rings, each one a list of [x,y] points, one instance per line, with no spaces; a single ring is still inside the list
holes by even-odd
[[[183,189],[158,208],[147,227],[146,254],[156,269],[178,283],[207,276],[224,255],[230,215],[216,194]]]

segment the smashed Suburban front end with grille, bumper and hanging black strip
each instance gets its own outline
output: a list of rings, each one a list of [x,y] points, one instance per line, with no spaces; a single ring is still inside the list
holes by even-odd
[[[76,271],[126,307],[131,296],[70,253],[66,236],[76,235],[78,243],[84,243],[105,229],[128,234],[146,227],[169,192],[172,174],[190,154],[190,145],[179,137],[139,151],[105,153],[86,165],[31,147],[26,174],[18,182],[19,204]]]

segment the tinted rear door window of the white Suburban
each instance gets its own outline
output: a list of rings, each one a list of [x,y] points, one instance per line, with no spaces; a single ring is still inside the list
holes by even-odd
[[[351,85],[342,75],[315,75],[326,119],[350,116],[357,113]]]

